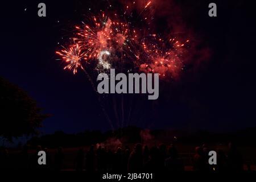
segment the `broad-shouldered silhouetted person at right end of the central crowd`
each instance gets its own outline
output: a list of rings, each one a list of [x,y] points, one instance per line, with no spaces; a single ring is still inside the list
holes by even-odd
[[[183,161],[179,158],[174,146],[168,148],[168,158],[165,161],[167,171],[184,171]]]

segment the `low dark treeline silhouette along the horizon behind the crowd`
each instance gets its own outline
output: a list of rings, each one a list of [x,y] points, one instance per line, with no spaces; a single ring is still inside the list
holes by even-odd
[[[45,146],[48,148],[80,147],[105,142],[108,138],[119,138],[125,143],[143,142],[143,129],[126,127],[115,131],[84,131],[77,134],[66,134],[57,131],[54,134],[32,137],[27,141],[31,147]],[[180,143],[229,143],[234,141],[240,146],[256,146],[256,127],[230,133],[210,133],[209,131],[182,131],[182,130],[150,130],[151,138],[164,142]]]

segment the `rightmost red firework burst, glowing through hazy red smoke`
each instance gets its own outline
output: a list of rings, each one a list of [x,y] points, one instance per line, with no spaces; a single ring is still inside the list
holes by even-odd
[[[159,73],[162,78],[176,77],[183,69],[182,55],[188,42],[189,40],[181,44],[173,38],[167,43],[155,34],[152,35],[152,38],[144,39],[142,48],[146,62],[140,63],[141,71]]]

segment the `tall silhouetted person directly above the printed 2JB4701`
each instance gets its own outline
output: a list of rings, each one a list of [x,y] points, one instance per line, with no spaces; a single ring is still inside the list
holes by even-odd
[[[128,161],[129,172],[141,172],[143,169],[142,145],[136,144],[133,152],[131,152]]]

